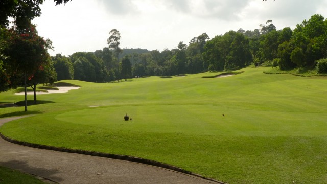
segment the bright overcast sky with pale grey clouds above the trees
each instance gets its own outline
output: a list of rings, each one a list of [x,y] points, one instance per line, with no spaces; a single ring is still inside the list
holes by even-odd
[[[33,20],[40,36],[53,41],[51,55],[94,52],[108,47],[109,31],[121,33],[121,48],[174,49],[180,41],[207,33],[260,29],[273,20],[277,30],[295,28],[314,14],[327,18],[327,0],[46,0]]]

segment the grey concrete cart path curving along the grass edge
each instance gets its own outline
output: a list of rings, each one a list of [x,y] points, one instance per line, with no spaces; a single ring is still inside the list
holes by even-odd
[[[4,123],[23,117],[0,119]],[[0,138],[0,166],[58,183],[216,183],[145,164],[31,148]]]

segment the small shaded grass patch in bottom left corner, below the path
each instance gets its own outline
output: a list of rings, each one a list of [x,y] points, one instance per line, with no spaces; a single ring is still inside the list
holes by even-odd
[[[0,183],[2,184],[41,184],[44,183],[41,180],[36,179],[29,174],[21,173],[19,171],[1,167],[0,166]]]

